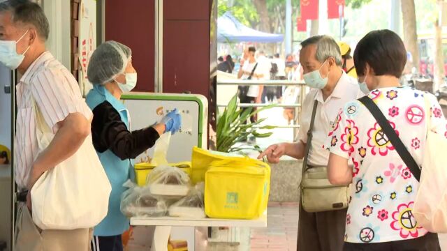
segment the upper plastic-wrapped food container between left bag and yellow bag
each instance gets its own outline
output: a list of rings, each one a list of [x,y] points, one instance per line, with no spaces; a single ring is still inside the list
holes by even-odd
[[[147,185],[152,195],[184,197],[188,195],[191,181],[182,169],[161,165],[147,176]]]

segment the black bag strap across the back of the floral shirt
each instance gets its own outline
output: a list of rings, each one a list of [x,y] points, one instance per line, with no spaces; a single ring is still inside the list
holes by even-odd
[[[391,127],[390,123],[388,122],[388,119],[383,115],[379,107],[377,107],[376,103],[369,98],[368,96],[364,96],[363,98],[358,99],[360,102],[362,102],[365,107],[371,112],[372,116],[374,116],[374,119],[376,119],[377,123],[379,123],[379,126],[385,132],[385,135],[388,137],[388,140],[390,140],[391,144],[393,144],[394,148],[396,149],[397,153],[400,155],[400,158],[404,160],[406,167],[408,167],[413,174],[414,178],[419,181],[420,179],[420,168],[414,158],[411,156],[409,151],[406,149],[404,143],[402,140],[400,140],[399,136],[395,132],[395,130]]]

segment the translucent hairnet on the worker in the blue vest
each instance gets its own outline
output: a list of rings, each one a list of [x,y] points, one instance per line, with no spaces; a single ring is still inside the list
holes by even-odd
[[[105,84],[124,73],[131,59],[132,50],[116,41],[99,45],[91,54],[87,77],[92,84]]]

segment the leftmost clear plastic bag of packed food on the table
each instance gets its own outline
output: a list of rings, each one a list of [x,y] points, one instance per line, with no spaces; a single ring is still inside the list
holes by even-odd
[[[166,215],[168,206],[166,201],[154,197],[149,188],[139,187],[131,181],[124,183],[129,188],[122,194],[121,211],[128,218],[134,216],[161,217]]]

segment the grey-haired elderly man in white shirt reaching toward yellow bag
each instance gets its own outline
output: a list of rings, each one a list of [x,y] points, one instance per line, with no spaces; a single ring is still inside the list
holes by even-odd
[[[328,134],[335,124],[339,112],[349,100],[364,94],[356,79],[342,70],[342,55],[335,40],[328,36],[314,36],[301,43],[300,63],[304,79],[312,89],[307,94],[302,107],[302,121],[298,141],[269,146],[259,158],[267,156],[269,162],[277,163],[283,155],[305,158],[308,144],[307,132],[316,102],[313,137],[307,155],[309,167],[328,165],[329,152],[323,149]],[[299,189],[299,188],[297,188]],[[320,198],[315,198],[316,200]],[[298,225],[298,250],[339,251],[344,244],[346,208],[341,210],[309,213],[300,204]]]

